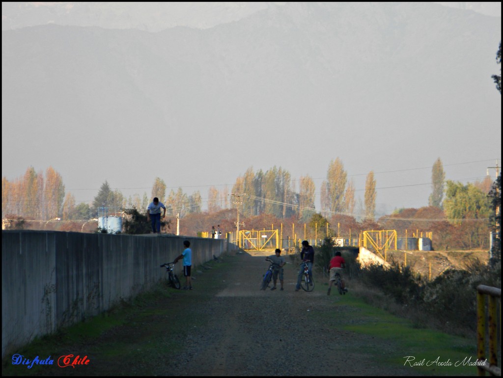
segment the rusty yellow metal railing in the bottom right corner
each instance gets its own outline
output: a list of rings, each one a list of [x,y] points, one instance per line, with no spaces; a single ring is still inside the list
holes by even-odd
[[[496,303],[498,298],[499,318]],[[487,327],[487,323],[489,323],[489,327]],[[488,371],[491,375],[501,376],[501,368],[498,367],[497,359],[498,328],[499,340],[501,340],[501,289],[479,285],[477,286],[477,359],[483,363],[477,364],[478,375],[485,375],[485,372]],[[488,340],[486,340],[487,335]],[[488,358],[486,343],[489,346]]]

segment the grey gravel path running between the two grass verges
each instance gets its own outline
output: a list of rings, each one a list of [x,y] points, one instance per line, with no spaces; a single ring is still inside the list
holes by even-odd
[[[338,317],[351,311],[344,306],[344,296],[334,298],[332,293],[328,297],[325,291],[295,292],[297,266],[292,264],[285,269],[285,291],[260,291],[261,276],[269,266],[265,257],[243,254],[236,259],[239,264],[222,276],[225,288],[195,310],[209,317],[211,327],[188,333],[185,351],[170,363],[170,375],[412,372],[398,366],[394,370],[379,369],[372,356],[359,352],[370,340],[339,329]],[[201,290],[197,286],[196,290]],[[386,350],[386,346],[380,347]]]

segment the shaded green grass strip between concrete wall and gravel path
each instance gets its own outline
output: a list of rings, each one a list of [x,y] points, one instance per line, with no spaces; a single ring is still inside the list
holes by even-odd
[[[199,285],[200,281],[202,284],[204,278],[203,296],[211,296],[225,284],[218,279],[218,274],[205,272],[225,269],[229,263],[209,261],[205,265],[211,266],[212,269],[198,267],[203,273],[198,275],[199,280],[196,278],[193,285]],[[205,317],[188,310],[191,306],[197,306],[200,300],[198,292],[191,292],[190,296],[186,294],[167,286],[163,281],[148,293],[122,300],[104,314],[64,328],[53,335],[36,338],[9,353],[2,361],[2,375],[65,374],[67,370],[57,367],[57,359],[67,354],[88,355],[94,365],[94,371],[99,368],[104,375],[159,374],[159,371],[148,371],[152,359],[162,360],[167,355],[176,356],[183,348],[181,340],[185,339],[187,327],[206,326]],[[177,301],[180,296],[184,297],[183,301]],[[150,324],[159,318],[165,320],[165,326],[163,329],[152,329]],[[51,356],[54,364],[34,364],[30,369],[26,365],[13,365],[12,355],[15,353],[29,358],[39,356],[40,359]],[[120,365],[124,361],[131,366]],[[90,373],[86,368],[87,366],[79,366],[67,373],[95,375],[95,372]]]

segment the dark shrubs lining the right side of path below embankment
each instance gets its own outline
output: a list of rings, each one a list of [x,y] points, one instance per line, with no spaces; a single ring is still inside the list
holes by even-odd
[[[466,335],[476,330],[477,286],[501,288],[500,273],[500,262],[492,266],[474,259],[464,269],[446,270],[429,282],[392,261],[390,266],[374,264],[361,269],[360,278],[366,286],[380,288],[392,297],[401,309],[410,309],[405,315],[417,324]]]

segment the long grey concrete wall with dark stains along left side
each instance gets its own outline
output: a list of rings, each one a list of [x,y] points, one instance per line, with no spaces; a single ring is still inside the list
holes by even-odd
[[[36,336],[149,290],[189,240],[193,266],[235,250],[224,239],[2,231],[2,358]],[[183,276],[182,261],[176,266]]]

